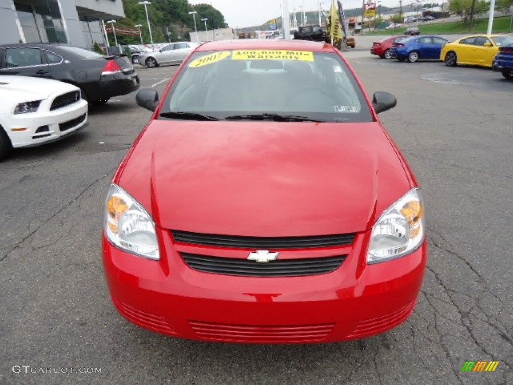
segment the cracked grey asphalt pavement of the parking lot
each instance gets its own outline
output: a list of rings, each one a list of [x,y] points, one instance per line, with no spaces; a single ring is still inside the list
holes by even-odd
[[[428,268],[404,324],[360,341],[242,345],[125,321],[110,302],[100,234],[110,179],[150,115],[130,94],[91,108],[81,133],[0,163],[0,383],[513,383],[513,82],[381,60],[362,44],[347,56],[370,94],[396,95],[380,118],[425,199]],[[159,91],[175,70],[138,69]],[[500,363],[462,373],[465,361]]]

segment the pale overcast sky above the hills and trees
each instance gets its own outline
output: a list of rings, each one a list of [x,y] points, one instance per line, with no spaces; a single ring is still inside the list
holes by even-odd
[[[321,7],[329,10],[331,0],[320,0],[323,4]],[[413,0],[415,1],[415,0]],[[410,1],[411,2],[411,1]],[[219,9],[225,16],[226,22],[232,28],[251,27],[260,25],[268,21],[272,17],[280,16],[281,0],[189,0],[191,4],[212,4],[214,8]],[[288,0],[289,11],[295,6],[299,12],[299,7],[304,5],[305,10],[318,10],[319,0]],[[399,4],[399,0],[382,0],[382,5]],[[403,4],[408,4],[405,0]],[[342,1],[343,7],[361,8],[362,0],[345,0]]]

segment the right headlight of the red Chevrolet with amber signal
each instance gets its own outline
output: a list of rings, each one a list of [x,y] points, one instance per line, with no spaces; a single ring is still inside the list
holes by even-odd
[[[399,258],[415,251],[424,240],[424,204],[414,188],[392,204],[372,226],[367,263]]]

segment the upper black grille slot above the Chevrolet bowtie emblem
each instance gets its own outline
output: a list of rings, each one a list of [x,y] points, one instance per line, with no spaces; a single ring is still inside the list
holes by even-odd
[[[173,230],[172,233],[176,242],[259,250],[350,245],[354,239],[354,233],[314,235],[307,237],[246,237],[238,235],[190,233],[181,230]]]

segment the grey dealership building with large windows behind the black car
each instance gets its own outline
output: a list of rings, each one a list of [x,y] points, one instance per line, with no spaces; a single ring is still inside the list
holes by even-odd
[[[122,0],[0,0],[0,44],[105,45],[101,21],[124,16]]]

